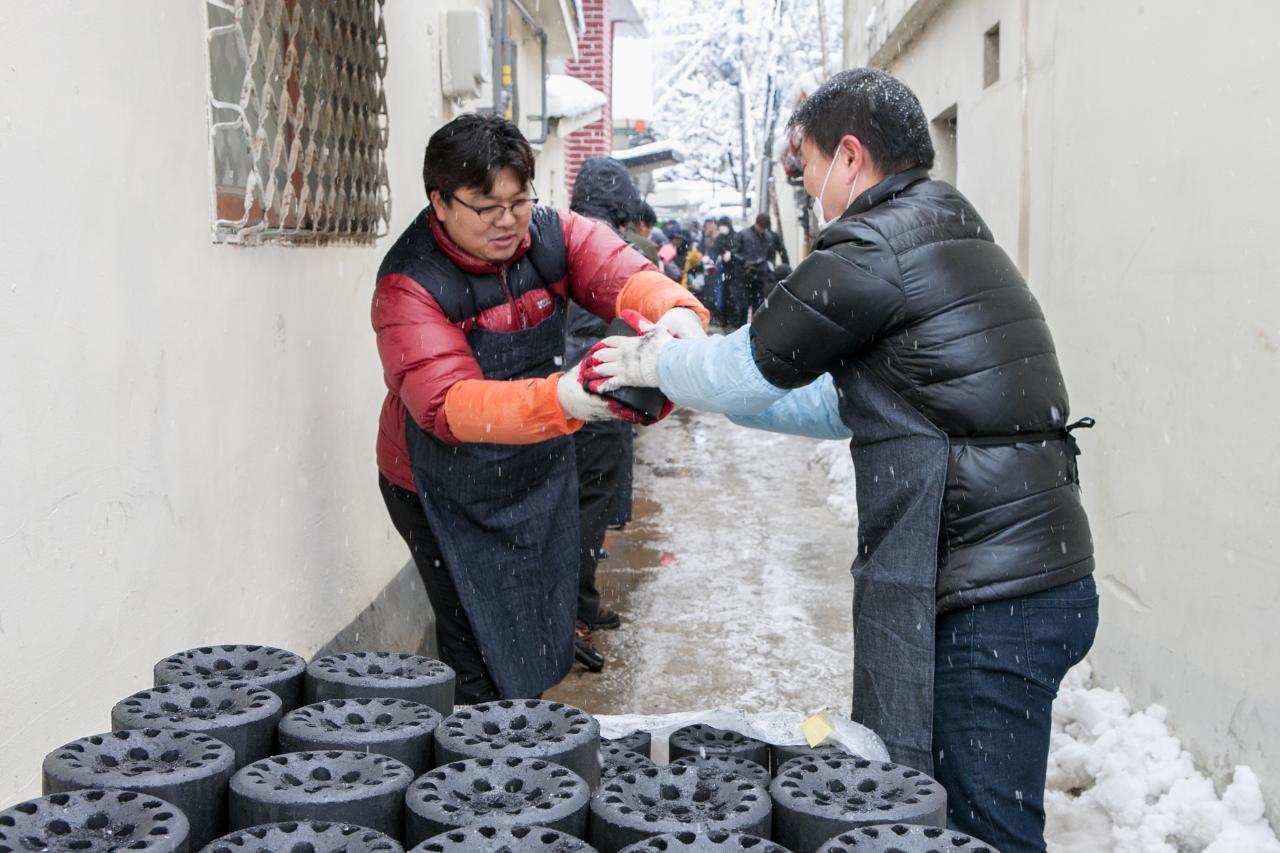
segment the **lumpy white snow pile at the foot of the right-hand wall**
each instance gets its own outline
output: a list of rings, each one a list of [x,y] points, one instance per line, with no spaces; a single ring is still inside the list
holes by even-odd
[[[1134,711],[1092,681],[1085,661],[1053,703],[1044,800],[1052,853],[1280,853],[1252,770],[1236,767],[1219,797],[1170,734],[1164,707]]]

